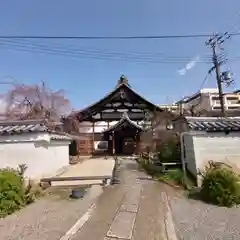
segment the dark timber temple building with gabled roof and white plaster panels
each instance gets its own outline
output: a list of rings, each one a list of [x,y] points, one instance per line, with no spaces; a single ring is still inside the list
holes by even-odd
[[[73,113],[82,136],[77,143],[79,154],[130,155],[140,151],[144,124],[156,111],[163,110],[134,91],[122,75],[105,97]]]

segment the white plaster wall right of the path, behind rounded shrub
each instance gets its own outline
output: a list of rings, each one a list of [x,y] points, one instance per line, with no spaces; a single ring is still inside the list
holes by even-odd
[[[224,162],[240,173],[240,134],[212,133],[193,135],[196,171],[205,170],[209,161]],[[186,143],[189,145],[189,143]],[[190,146],[190,145],[189,145]],[[201,177],[198,176],[198,185],[201,185]]]

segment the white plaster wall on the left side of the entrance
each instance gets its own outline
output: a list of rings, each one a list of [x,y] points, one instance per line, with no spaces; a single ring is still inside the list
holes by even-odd
[[[45,138],[43,134],[25,134],[19,136],[0,137],[0,168],[17,168],[26,164],[26,177],[39,179],[54,175],[62,167],[69,164],[69,141],[33,141]],[[44,134],[45,135],[45,134]],[[4,140],[7,140],[3,142]],[[11,141],[12,140],[12,141]],[[18,141],[16,141],[18,140]]]

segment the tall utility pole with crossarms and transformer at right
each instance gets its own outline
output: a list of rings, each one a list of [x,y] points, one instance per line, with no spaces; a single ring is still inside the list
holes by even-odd
[[[226,111],[224,106],[224,94],[223,94],[223,87],[222,83],[225,79],[222,77],[222,72],[220,70],[220,66],[225,63],[227,60],[224,55],[218,56],[216,53],[216,48],[223,50],[223,43],[226,39],[229,39],[230,35],[228,33],[224,33],[222,35],[214,34],[210,39],[206,42],[207,46],[210,46],[212,48],[212,61],[213,61],[213,67],[209,70],[208,73],[211,73],[213,70],[216,72],[216,78],[217,78],[217,86],[218,86],[218,92],[219,92],[219,100],[221,105],[221,113],[222,117],[226,117]],[[226,83],[227,84],[227,83]]]

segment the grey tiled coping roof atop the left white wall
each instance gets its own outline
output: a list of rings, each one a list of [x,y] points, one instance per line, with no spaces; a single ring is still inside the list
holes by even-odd
[[[17,121],[0,121],[0,135],[13,135],[22,133],[51,133],[51,139],[69,140],[70,137],[64,133],[58,133],[48,129],[44,120],[17,120]]]

